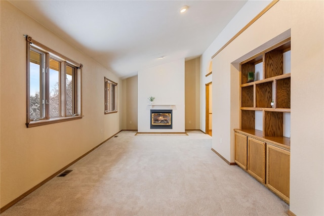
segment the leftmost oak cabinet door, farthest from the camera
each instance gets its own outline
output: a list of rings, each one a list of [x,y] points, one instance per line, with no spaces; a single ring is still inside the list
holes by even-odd
[[[248,137],[235,133],[235,162],[242,169],[247,169]]]

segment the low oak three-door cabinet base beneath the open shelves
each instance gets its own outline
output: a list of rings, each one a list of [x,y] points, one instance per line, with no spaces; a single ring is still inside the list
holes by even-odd
[[[234,132],[236,164],[289,204],[290,147],[281,144],[287,140],[264,137],[256,130]]]

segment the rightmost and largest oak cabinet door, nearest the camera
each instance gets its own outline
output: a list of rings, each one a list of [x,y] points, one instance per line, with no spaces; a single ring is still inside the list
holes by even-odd
[[[289,204],[290,151],[267,144],[267,187]]]

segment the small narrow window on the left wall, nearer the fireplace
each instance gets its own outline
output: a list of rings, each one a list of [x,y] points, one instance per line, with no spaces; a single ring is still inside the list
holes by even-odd
[[[117,112],[117,83],[105,77],[105,114]]]

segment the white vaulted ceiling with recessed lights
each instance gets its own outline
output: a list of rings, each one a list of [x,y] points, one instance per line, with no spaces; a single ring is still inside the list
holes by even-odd
[[[246,2],[10,1],[122,78],[200,56]]]

